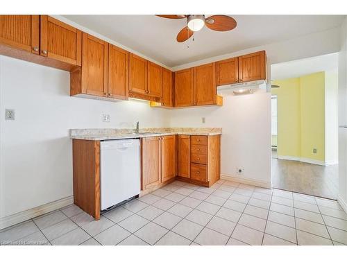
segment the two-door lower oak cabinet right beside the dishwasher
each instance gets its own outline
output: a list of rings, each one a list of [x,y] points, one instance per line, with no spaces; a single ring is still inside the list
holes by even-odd
[[[142,190],[176,177],[176,135],[141,139]]]

